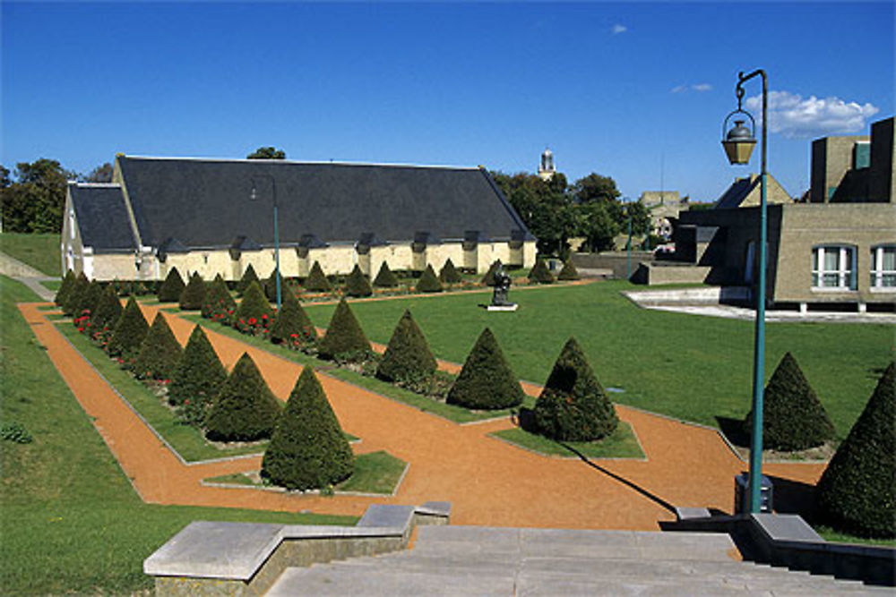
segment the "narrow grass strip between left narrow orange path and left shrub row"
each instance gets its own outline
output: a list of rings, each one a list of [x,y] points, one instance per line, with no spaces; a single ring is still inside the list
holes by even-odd
[[[242,448],[219,448],[205,441],[199,430],[192,425],[178,422],[174,413],[162,404],[159,397],[152,394],[140,381],[135,380],[130,373],[118,367],[99,346],[90,342],[88,337],[79,333],[70,323],[61,321],[56,324],[56,328],[187,462],[262,454],[267,447],[266,441]]]

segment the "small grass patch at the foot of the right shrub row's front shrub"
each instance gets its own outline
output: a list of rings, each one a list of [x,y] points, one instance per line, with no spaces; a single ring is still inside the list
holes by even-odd
[[[490,433],[497,438],[509,441],[521,448],[546,456],[577,457],[580,454],[587,458],[643,458],[644,452],[634,437],[632,426],[620,421],[616,431],[608,438],[600,441],[555,441],[546,437],[522,431],[520,428],[506,429]]]

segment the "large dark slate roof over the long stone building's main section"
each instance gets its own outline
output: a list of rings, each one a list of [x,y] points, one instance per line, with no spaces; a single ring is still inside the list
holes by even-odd
[[[273,188],[280,243],[433,238],[532,238],[480,168],[119,157],[144,245],[175,237],[191,247],[229,247],[237,236],[273,244]],[[273,183],[273,184],[272,184]],[[256,200],[250,200],[253,187]],[[522,231],[522,233],[513,231]]]

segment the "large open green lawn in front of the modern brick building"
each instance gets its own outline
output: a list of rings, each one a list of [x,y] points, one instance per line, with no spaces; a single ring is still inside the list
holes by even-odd
[[[638,308],[620,294],[643,289],[625,281],[511,290],[516,312],[478,307],[483,294],[351,302],[367,337],[386,343],[410,309],[436,356],[463,362],[489,327],[518,377],[544,383],[561,347],[574,336],[605,387],[622,388],[616,402],[718,427],[717,417],[742,419],[753,378],[751,321]],[[332,305],[306,305],[326,326]],[[894,354],[883,324],[768,323],[766,379],[791,351],[837,428],[840,439],[857,419],[880,372]]]

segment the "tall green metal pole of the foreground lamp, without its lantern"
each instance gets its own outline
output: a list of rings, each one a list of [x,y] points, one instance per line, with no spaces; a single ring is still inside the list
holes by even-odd
[[[755,76],[762,77],[762,179],[759,209],[759,276],[756,287],[756,329],[753,346],[753,435],[750,441],[749,511],[762,507],[762,394],[765,385],[765,277],[766,277],[766,178],[768,176],[769,81],[762,69],[738,74],[737,89]]]

